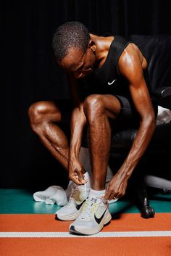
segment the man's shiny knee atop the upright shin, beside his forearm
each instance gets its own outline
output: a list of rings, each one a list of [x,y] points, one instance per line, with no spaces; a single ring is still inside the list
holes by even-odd
[[[84,112],[89,120],[101,115],[104,112],[104,103],[101,95],[92,94],[88,96],[84,102]]]

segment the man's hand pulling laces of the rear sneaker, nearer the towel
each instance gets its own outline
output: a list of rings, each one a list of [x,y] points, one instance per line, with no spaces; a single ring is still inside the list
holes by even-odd
[[[84,185],[87,181],[84,179],[86,170],[82,167],[78,160],[70,160],[69,165],[69,178],[77,185]]]

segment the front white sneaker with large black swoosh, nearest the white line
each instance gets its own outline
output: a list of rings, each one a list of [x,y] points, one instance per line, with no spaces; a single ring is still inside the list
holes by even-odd
[[[107,202],[104,202],[101,197],[88,198],[78,218],[70,224],[70,232],[84,235],[96,234],[111,219]]]

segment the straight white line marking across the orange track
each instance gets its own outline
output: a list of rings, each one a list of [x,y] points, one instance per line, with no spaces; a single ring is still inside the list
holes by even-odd
[[[91,236],[78,236],[67,232],[0,232],[0,238],[91,238],[91,237],[151,237],[171,236],[171,231],[100,232]]]

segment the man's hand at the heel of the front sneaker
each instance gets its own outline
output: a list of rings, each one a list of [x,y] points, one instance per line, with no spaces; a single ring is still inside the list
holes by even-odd
[[[109,181],[104,199],[112,200],[124,196],[127,184],[128,178],[116,174],[112,180]]]

